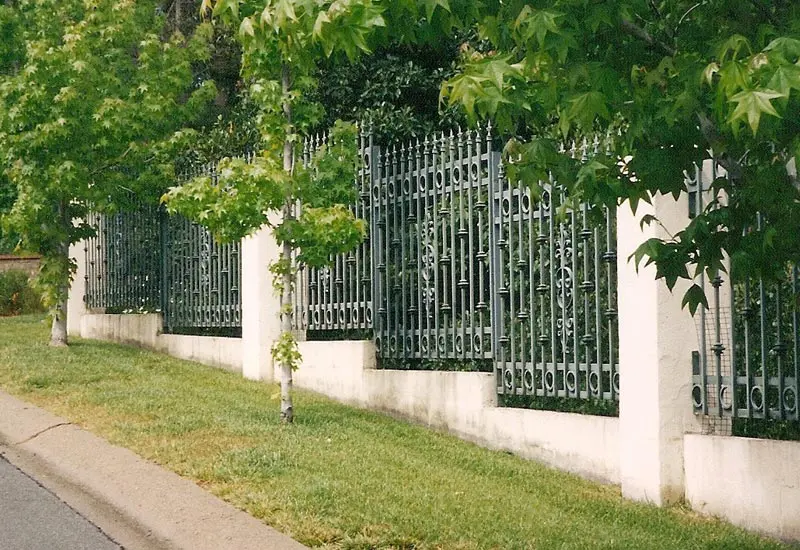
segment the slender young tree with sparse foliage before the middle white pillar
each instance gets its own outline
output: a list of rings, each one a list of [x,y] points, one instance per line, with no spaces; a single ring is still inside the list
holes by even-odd
[[[238,28],[243,77],[257,106],[263,149],[250,163],[225,159],[217,182],[198,178],[164,198],[170,210],[206,225],[222,240],[240,239],[263,225],[273,228],[282,247],[271,266],[281,296],[282,332],[272,353],[280,368],[281,420],[290,423],[292,370],[300,359],[292,336],[296,263],[322,265],[330,255],[355,247],[364,233],[363,222],[346,207],[355,192],[352,127],[335,126],[310,170],[296,162],[295,144],[320,117],[319,105],[308,100],[316,61],[334,52],[354,58],[367,51],[366,36],[383,19],[370,1],[206,0],[202,9]]]

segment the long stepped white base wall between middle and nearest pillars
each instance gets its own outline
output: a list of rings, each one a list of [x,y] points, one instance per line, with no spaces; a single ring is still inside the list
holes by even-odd
[[[619,420],[497,407],[492,374],[376,370],[372,342],[300,342],[296,386],[619,483]]]

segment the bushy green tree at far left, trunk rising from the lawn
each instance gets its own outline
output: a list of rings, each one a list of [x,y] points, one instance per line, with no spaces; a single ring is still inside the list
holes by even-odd
[[[90,208],[157,197],[179,130],[216,95],[192,64],[208,57],[211,27],[162,34],[152,0],[19,0],[0,49],[0,167],[17,191],[4,217],[26,250],[65,345],[69,245],[91,233]],[[0,17],[0,25],[3,17]],[[10,53],[9,53],[10,52]]]

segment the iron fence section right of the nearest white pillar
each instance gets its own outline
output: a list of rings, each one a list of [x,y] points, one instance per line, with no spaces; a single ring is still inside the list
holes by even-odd
[[[691,207],[703,209],[708,185],[724,176],[711,161],[689,179]],[[759,227],[767,223],[758,219]],[[799,420],[800,272],[787,265],[780,280],[735,272],[701,279],[709,309],[697,313],[700,349],[693,354],[692,401],[698,414]]]

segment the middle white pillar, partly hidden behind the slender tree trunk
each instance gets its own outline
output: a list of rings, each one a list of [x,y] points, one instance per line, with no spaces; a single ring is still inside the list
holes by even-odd
[[[242,240],[242,374],[251,380],[274,379],[271,349],[280,336],[280,299],[269,266],[279,254],[267,227]]]

